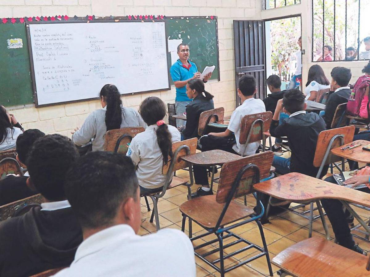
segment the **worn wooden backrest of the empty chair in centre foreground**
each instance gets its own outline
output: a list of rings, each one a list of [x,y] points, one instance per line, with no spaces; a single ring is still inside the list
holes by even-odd
[[[253,184],[258,183],[260,179],[269,177],[273,156],[272,151],[266,151],[223,164],[220,173],[216,201],[218,203],[225,203],[228,201],[229,193],[235,185],[238,172],[248,164],[255,164],[259,169],[259,179],[254,179],[255,170],[253,170],[253,168],[246,170],[240,178],[239,187],[236,188],[236,192],[232,197],[238,198],[240,196],[250,194],[252,192]]]

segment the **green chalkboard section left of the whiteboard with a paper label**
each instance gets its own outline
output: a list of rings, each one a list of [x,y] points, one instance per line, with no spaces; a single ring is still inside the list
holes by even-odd
[[[21,44],[21,39],[23,45]],[[0,24],[0,104],[33,103],[30,58],[24,23]]]

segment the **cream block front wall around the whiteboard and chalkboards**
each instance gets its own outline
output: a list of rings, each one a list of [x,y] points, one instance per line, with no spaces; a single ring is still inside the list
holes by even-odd
[[[261,17],[258,0],[0,0],[0,18],[25,16],[126,16],[155,14],[165,16],[218,16],[218,38],[221,81],[209,81],[206,90],[212,93],[216,107],[225,107],[230,115],[235,109],[235,64],[233,20]],[[101,88],[97,88],[97,95]],[[158,96],[166,103],[175,102],[175,88],[170,91],[123,96],[125,106],[138,108],[148,96]],[[45,133],[71,136],[88,114],[101,108],[100,101],[85,101],[36,109],[31,107],[12,111],[25,129],[37,128]]]

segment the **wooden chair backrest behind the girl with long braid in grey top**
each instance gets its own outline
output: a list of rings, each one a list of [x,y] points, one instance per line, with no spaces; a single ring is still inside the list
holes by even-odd
[[[129,127],[109,130],[105,134],[104,151],[118,152],[126,154],[128,150],[127,143],[138,133],[144,132],[143,127]]]

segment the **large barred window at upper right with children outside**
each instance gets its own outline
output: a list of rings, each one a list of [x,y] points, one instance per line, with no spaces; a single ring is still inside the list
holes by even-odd
[[[312,61],[370,59],[370,0],[312,0]]]

